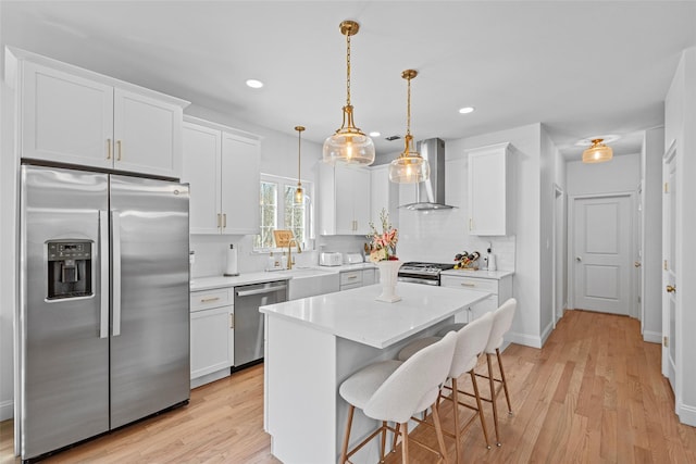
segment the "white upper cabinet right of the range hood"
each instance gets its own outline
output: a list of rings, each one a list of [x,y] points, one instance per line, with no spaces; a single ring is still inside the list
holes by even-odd
[[[512,186],[509,166],[510,143],[469,151],[469,234],[507,236],[512,234]]]

